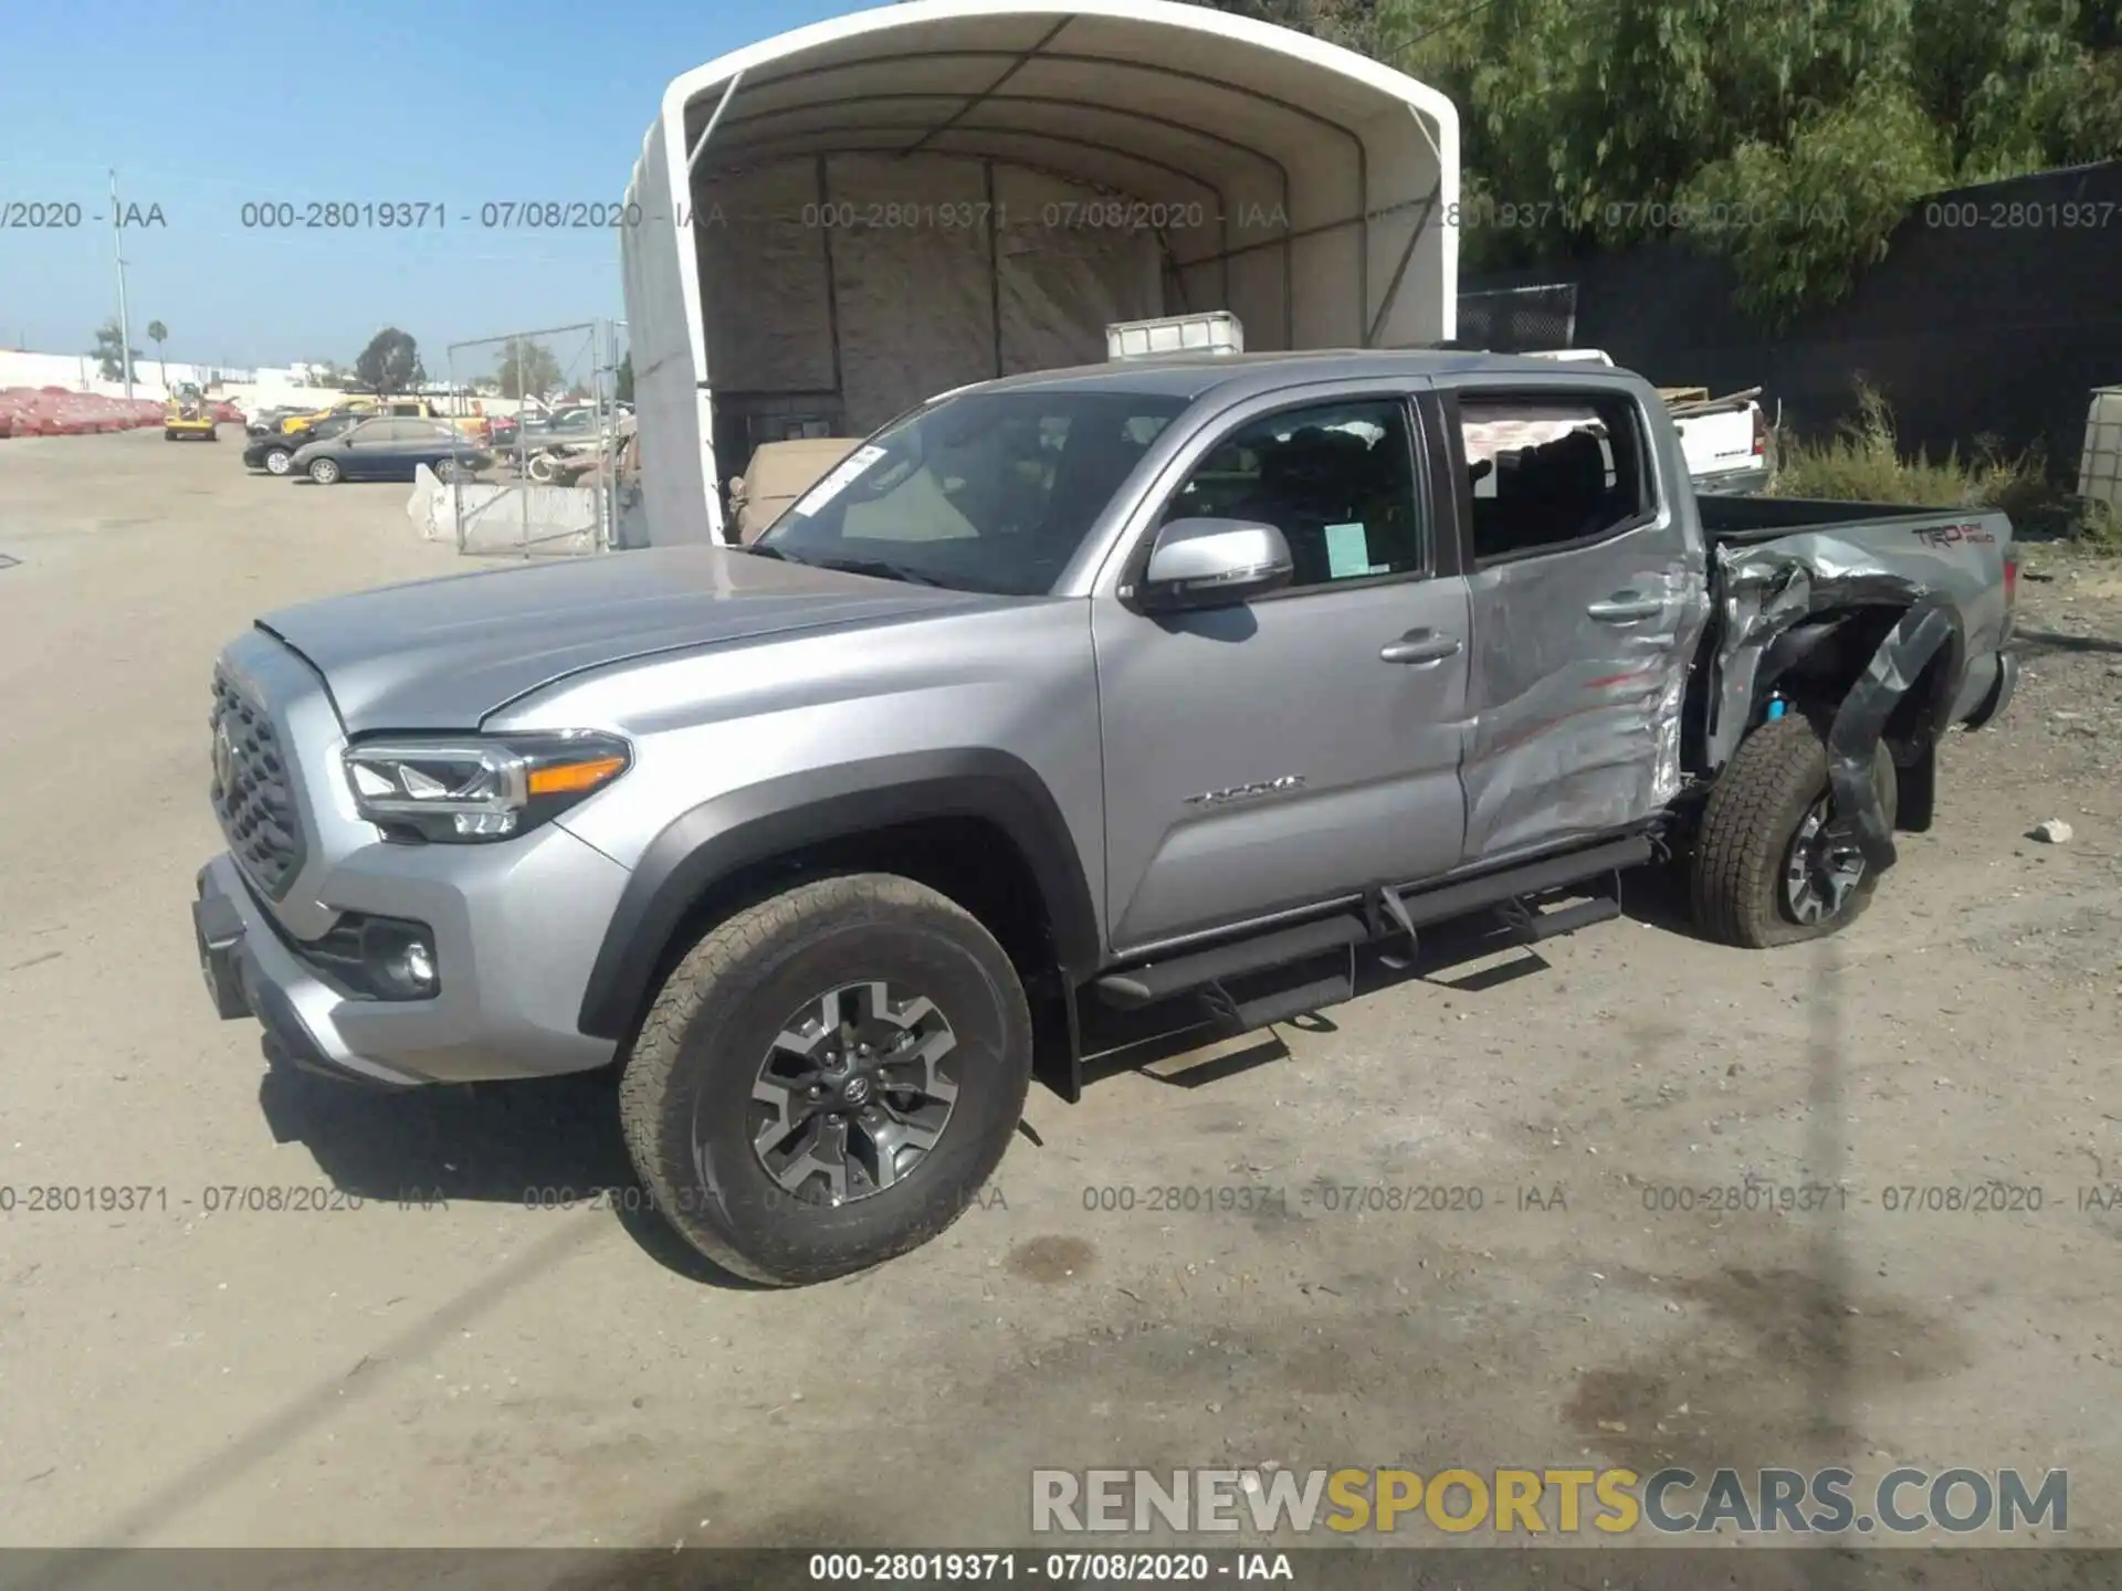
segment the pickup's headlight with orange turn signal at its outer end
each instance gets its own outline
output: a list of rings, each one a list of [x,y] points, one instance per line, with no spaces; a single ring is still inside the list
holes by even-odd
[[[344,751],[346,783],[369,823],[397,840],[507,840],[626,772],[615,734],[369,740]]]

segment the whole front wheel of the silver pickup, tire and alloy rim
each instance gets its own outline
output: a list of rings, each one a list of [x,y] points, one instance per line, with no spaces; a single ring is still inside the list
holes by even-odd
[[[1031,1012],[995,938],[925,885],[847,874],[730,916],[679,961],[620,1120],[700,1254],[798,1286],[955,1222],[1029,1084]]]

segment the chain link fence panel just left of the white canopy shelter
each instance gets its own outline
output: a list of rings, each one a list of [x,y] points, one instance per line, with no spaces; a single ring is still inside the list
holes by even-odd
[[[422,479],[424,499],[414,492],[420,530],[477,556],[626,545],[641,496],[632,405],[620,397],[626,322],[511,331],[448,354],[467,416],[450,469]]]

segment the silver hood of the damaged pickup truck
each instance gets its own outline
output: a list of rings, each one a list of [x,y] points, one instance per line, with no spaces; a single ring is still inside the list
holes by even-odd
[[[257,624],[325,677],[361,734],[471,730],[541,685],[628,658],[991,600],[724,547],[651,547],[384,585]]]

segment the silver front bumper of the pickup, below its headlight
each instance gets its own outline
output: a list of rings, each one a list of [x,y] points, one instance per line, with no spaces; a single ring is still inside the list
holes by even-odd
[[[214,1012],[255,1016],[306,1071],[382,1088],[607,1065],[618,1046],[575,1020],[626,870],[560,827],[443,851],[373,844],[320,889],[340,912],[429,925],[441,984],[429,999],[352,991],[276,925],[233,857],[208,861],[191,921]]]

